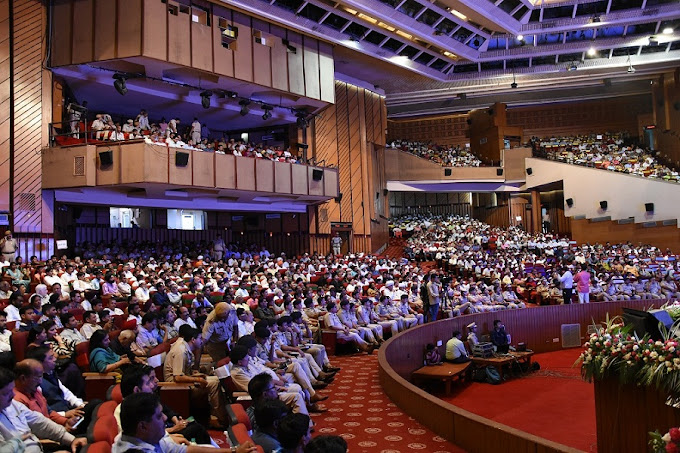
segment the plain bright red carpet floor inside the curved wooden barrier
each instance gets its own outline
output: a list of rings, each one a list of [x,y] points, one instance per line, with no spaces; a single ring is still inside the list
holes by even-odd
[[[442,399],[456,406],[582,451],[597,451],[593,385],[572,364],[580,348],[536,354],[540,371],[500,385],[466,383]],[[507,373],[506,373],[507,374]]]

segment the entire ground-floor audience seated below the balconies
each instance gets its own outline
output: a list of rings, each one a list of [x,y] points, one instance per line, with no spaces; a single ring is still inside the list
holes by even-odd
[[[235,451],[253,451],[256,444],[303,451],[308,414],[326,411],[327,395],[318,390],[342,377],[324,344],[333,336],[371,354],[387,337],[441,317],[680,296],[680,267],[667,250],[576,246],[549,233],[456,216],[406,216],[394,227],[405,232],[404,258],[288,257],[217,237],[197,244],[83,243],[72,258],[6,260],[0,395],[7,398],[0,413],[7,421],[0,418],[0,447],[30,451],[39,439],[80,445],[83,430],[96,422],[99,402],[85,399],[82,375],[93,371],[122,374],[114,451],[146,444],[176,451],[187,436],[211,443],[206,428],[231,423],[225,408],[238,391],[252,399],[253,435]],[[435,270],[423,271],[423,261],[434,262]],[[464,335],[474,340],[475,327],[454,335],[445,358],[468,359],[459,342]],[[494,343],[506,348],[500,321],[496,328]],[[25,343],[22,357],[17,341]],[[76,360],[83,343],[86,365]],[[428,350],[427,360],[441,359]],[[220,372],[225,367],[229,371]],[[197,385],[191,399],[210,407],[212,418],[197,413],[200,423],[189,427],[154,395],[134,396],[154,393],[157,373],[168,383]],[[143,437],[151,422],[166,428],[156,432],[160,438]]]

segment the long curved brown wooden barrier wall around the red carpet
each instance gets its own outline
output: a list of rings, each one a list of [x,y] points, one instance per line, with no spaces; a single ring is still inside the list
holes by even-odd
[[[524,342],[535,352],[556,351],[562,349],[562,324],[580,324],[583,343],[587,326],[593,320],[602,322],[607,315],[621,315],[623,307],[644,309],[652,305],[658,307],[664,302],[644,300],[556,305],[479,313],[425,324],[397,335],[380,349],[380,384],[406,414],[466,451],[577,452],[566,445],[465,411],[411,384],[410,374],[422,366],[425,345],[437,340],[446,342],[454,330],[464,332],[465,326],[472,321],[477,323],[478,332],[489,332],[494,319],[501,319],[512,335],[513,343]]]

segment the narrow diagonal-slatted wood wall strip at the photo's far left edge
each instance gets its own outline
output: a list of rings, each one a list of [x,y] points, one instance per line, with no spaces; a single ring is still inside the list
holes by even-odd
[[[0,1],[0,211],[10,210],[10,26],[9,0]]]

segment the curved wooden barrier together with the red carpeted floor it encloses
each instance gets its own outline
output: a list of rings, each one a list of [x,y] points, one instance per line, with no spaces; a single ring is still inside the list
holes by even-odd
[[[663,302],[665,301],[661,301]],[[380,348],[378,355],[380,384],[387,396],[406,414],[469,452],[575,453],[596,451],[596,439],[593,435],[595,432],[593,386],[577,382],[580,379],[578,368],[567,368],[574,363],[580,349],[564,350],[562,348],[561,326],[580,324],[581,343],[583,343],[587,336],[587,327],[592,324],[593,319],[596,322],[603,322],[607,314],[610,317],[620,315],[623,307],[644,309],[649,305],[651,301],[549,306],[479,313],[425,324],[397,335]],[[464,327],[472,321],[478,325],[478,334],[489,332],[494,319],[503,320],[507,331],[513,336],[513,343],[526,343],[537,353],[536,360],[539,363],[543,361],[547,365],[547,370],[539,371],[536,376],[510,380],[493,387],[488,384],[463,384],[463,386],[470,385],[471,387],[467,390],[475,392],[474,395],[463,395],[462,392],[466,389],[461,389],[460,385],[455,384],[454,393],[450,397],[442,395],[443,399],[439,398],[439,394],[431,395],[409,382],[411,372],[422,366],[423,350],[427,343],[436,343],[438,340],[445,343],[451,337],[453,330],[465,331]],[[555,372],[557,368],[561,376],[549,376],[551,370]],[[569,406],[567,403],[569,398],[565,398],[563,390],[560,389],[556,389],[554,394],[548,397],[551,383],[549,379],[543,379],[543,377],[573,380],[567,383],[569,386],[574,386],[572,391],[578,392],[573,402],[576,404],[580,402],[582,405]],[[539,382],[539,379],[544,382]],[[532,380],[535,380],[536,395],[524,400],[518,398],[517,392],[513,389],[517,387],[526,392],[526,386],[531,386]],[[553,385],[559,385],[559,383],[553,382]],[[475,388],[475,386],[478,387]],[[480,389],[480,386],[483,387]],[[460,398],[456,398],[457,392],[461,392]],[[540,397],[541,392],[543,398]],[[482,398],[483,393],[488,393],[489,397]],[[502,405],[503,409],[489,407],[502,396],[506,398],[506,402]],[[512,413],[508,413],[508,417],[498,414],[498,411],[511,407],[510,399],[516,402],[517,408],[513,409]],[[543,410],[550,404],[561,404],[564,410],[561,411],[555,407],[550,411]],[[578,410],[578,412],[573,410],[570,412],[571,409]],[[574,420],[579,417],[579,413],[591,414],[590,421],[584,418]],[[522,420],[519,419],[520,417]],[[531,418],[527,420],[529,417]],[[534,428],[546,423],[569,426],[565,427],[565,432],[545,438],[531,432],[554,433],[555,431],[533,429],[529,426],[532,423]],[[580,439],[569,440],[569,436],[580,437]]]

